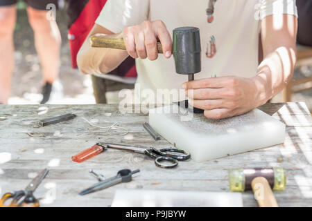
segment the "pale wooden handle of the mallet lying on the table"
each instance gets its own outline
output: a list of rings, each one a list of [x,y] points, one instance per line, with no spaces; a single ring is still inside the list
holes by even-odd
[[[265,177],[255,177],[251,185],[260,207],[278,207],[270,184]]]

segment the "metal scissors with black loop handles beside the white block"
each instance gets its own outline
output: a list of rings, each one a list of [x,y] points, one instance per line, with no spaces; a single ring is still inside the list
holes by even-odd
[[[146,148],[143,146],[128,146],[122,144],[106,144],[98,143],[99,146],[103,148],[116,148],[125,151],[133,151],[135,153],[141,153],[148,155],[149,157],[155,158],[156,166],[161,168],[173,168],[177,166],[177,161],[189,160],[191,155],[187,151],[179,150],[177,148],[162,148],[158,150],[157,148]],[[162,163],[166,162],[166,164]]]

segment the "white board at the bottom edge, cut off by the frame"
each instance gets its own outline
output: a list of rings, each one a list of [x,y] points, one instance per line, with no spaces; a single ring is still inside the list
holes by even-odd
[[[112,207],[243,207],[241,193],[119,189]]]

